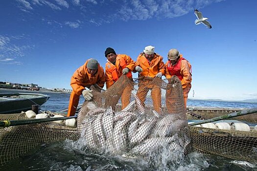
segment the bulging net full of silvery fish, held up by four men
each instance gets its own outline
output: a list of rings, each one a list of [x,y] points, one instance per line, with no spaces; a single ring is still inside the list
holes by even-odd
[[[106,91],[95,86],[93,101],[78,113],[77,129],[86,146],[103,153],[146,158],[164,150],[183,156],[190,149],[182,85],[170,80],[122,76]]]

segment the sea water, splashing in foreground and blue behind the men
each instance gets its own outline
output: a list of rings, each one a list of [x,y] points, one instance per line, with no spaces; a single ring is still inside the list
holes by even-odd
[[[0,93],[19,91],[21,90],[0,89]],[[57,111],[68,108],[70,94],[34,93],[51,96],[47,103],[41,106],[41,110]],[[84,99],[80,98],[80,104],[83,101]],[[257,103],[203,100],[188,100],[187,105],[199,107],[257,107]],[[166,155],[165,152],[163,155]],[[87,149],[83,139],[42,144],[22,157],[10,161],[3,168],[8,171],[257,171],[257,166],[253,163],[199,152],[191,152],[183,160],[173,163],[164,160],[149,162],[134,156],[103,155]]]

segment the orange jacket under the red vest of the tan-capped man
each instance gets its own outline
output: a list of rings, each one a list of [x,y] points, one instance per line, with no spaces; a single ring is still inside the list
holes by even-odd
[[[180,59],[183,58],[182,55],[180,55]],[[179,59],[179,61],[180,61]],[[182,76],[183,78],[180,78],[181,80],[181,84],[182,84],[182,88],[185,89],[186,87],[191,87],[191,82],[192,82],[192,74],[191,74],[191,64],[186,60],[186,59],[182,59],[180,61],[180,66],[177,66],[177,64],[179,64],[179,61],[178,63],[176,63],[174,65],[174,68],[178,68],[180,69],[179,73],[177,76]],[[165,77],[166,78],[171,78],[173,75],[171,74],[171,72],[169,72],[169,64],[170,62],[167,61],[166,62],[166,71],[165,71]],[[177,72],[177,71],[176,71]]]

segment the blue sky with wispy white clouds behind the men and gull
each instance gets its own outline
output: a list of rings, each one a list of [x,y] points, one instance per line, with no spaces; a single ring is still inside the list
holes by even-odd
[[[164,63],[177,48],[192,64],[189,98],[257,98],[256,7],[256,0],[1,0],[0,81],[71,89],[87,59],[105,66],[107,47],[136,61],[153,45]],[[212,29],[194,24],[194,8]]]

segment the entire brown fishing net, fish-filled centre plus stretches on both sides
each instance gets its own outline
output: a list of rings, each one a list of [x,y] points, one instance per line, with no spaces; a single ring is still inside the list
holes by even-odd
[[[255,129],[246,132],[188,127],[187,119],[199,118],[186,114],[177,77],[131,80],[122,76],[107,90],[97,85],[91,89],[93,101],[85,101],[81,107],[77,128],[54,122],[0,128],[0,166],[42,143],[79,138],[89,149],[103,153],[154,157],[165,150],[177,157],[181,155],[176,151],[185,155],[193,147],[206,154],[257,162]],[[205,119],[226,114],[193,112]],[[24,119],[28,119],[25,113],[0,114],[0,121]]]

